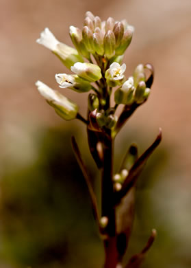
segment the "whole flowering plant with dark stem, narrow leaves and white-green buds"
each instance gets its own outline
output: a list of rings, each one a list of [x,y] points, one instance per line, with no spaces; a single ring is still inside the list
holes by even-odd
[[[83,118],[75,102],[43,82],[36,82],[40,94],[60,117],[64,120],[77,118],[86,124],[90,153],[97,168],[101,170],[101,213],[75,137],[72,137],[72,145],[86,179],[94,218],[103,239],[105,268],[140,267],[156,235],[156,231],[152,230],[142,252],[132,256],[127,265],[122,264],[133,225],[136,181],[147,159],[162,139],[160,130],[153,144],[140,157],[137,146],[131,144],[118,172],[114,174],[115,137],[133,112],[149,98],[154,77],[151,64],[140,64],[132,76],[125,78],[126,65],[121,63],[131,43],[133,31],[134,28],[127,21],[114,21],[111,17],[107,21],[101,21],[99,16],[86,12],[82,30],[70,27],[75,48],[58,41],[48,28],[37,40],[37,43],[51,49],[73,72],[55,74],[55,80],[61,88],[79,93],[91,91],[88,95],[87,118]],[[146,71],[150,73],[148,77]],[[112,93],[115,102],[113,105],[110,101]],[[119,104],[123,105],[123,109],[117,116]]]

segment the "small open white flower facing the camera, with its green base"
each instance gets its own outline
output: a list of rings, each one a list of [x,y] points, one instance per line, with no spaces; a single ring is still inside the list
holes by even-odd
[[[119,63],[112,63],[110,68],[105,71],[105,78],[107,85],[110,87],[116,87],[116,85],[122,85],[125,79],[124,72],[126,69],[125,63],[120,66]]]

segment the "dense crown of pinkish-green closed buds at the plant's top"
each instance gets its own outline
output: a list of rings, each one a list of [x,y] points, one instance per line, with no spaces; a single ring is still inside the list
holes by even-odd
[[[90,54],[110,59],[121,56],[131,43],[134,28],[127,21],[108,18],[101,21],[99,16],[86,12],[84,27],[70,27],[70,35],[79,54],[90,58]]]

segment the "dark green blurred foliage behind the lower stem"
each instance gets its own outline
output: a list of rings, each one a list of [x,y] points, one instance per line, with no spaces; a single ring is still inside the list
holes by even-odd
[[[97,169],[84,142],[84,133],[79,129],[67,131],[55,127],[31,131],[28,135],[32,146],[22,141],[16,146],[16,139],[12,140],[17,150],[14,157],[18,155],[18,159],[22,159],[23,155],[27,159],[31,152],[33,157],[28,157],[29,161],[23,161],[23,165],[18,165],[11,154],[2,160],[2,263],[13,268],[102,267],[103,245],[92,216],[86,183],[71,149],[73,133],[77,133],[81,153],[97,189]],[[128,148],[138,139],[138,134],[134,129],[117,141],[115,170],[126,153],[126,145]],[[146,137],[138,139],[140,153],[146,149],[146,144]],[[136,219],[125,263],[142,250],[155,227],[158,236],[142,268],[188,268],[191,265],[187,247],[190,236],[182,236],[182,229],[189,226],[189,222],[185,226],[183,223],[190,218],[187,209],[180,212],[184,202],[189,208],[191,198],[189,194],[183,199],[185,194],[181,194],[179,184],[172,182],[169,152],[165,144],[157,148],[138,181]]]

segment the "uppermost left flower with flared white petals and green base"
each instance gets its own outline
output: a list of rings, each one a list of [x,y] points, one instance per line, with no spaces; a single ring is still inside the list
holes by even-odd
[[[45,28],[43,32],[40,34],[40,38],[36,40],[40,45],[44,45],[50,49],[60,60],[62,63],[70,69],[77,62],[84,63],[83,58],[79,55],[76,49],[73,47],[69,47],[64,43],[60,43],[55,36],[51,33],[49,28]]]

